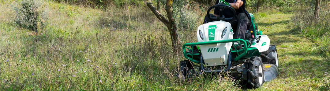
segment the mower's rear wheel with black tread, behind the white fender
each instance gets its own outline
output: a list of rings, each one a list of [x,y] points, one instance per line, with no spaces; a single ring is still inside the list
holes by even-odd
[[[277,49],[275,45],[269,45],[268,50],[261,52],[260,57],[262,62],[268,62],[279,67],[279,57],[277,55]]]

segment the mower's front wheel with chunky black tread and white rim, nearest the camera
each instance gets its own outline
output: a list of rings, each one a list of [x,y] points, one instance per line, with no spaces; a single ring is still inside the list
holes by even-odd
[[[251,57],[248,61],[248,86],[253,88],[261,87],[264,83],[264,71],[260,57]]]

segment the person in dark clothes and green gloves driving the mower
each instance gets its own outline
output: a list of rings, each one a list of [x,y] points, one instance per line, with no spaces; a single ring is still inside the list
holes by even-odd
[[[247,27],[250,25],[249,19],[247,15],[244,13],[245,3],[246,3],[245,0],[216,0],[215,2],[215,4],[225,4],[235,9],[237,17],[236,19],[229,21],[231,27],[233,28],[234,33],[236,32],[236,35],[233,37],[234,39],[235,38],[244,39]],[[218,16],[219,13],[220,11],[218,9],[215,9],[214,15],[210,14],[210,16],[215,17]],[[225,17],[233,17],[232,14],[233,13],[227,8],[223,10],[223,15]],[[207,15],[205,15],[204,24],[212,21],[215,20],[211,20]],[[238,42],[234,42],[234,44],[238,44]],[[242,49],[242,46],[241,45],[236,46],[236,49]]]

